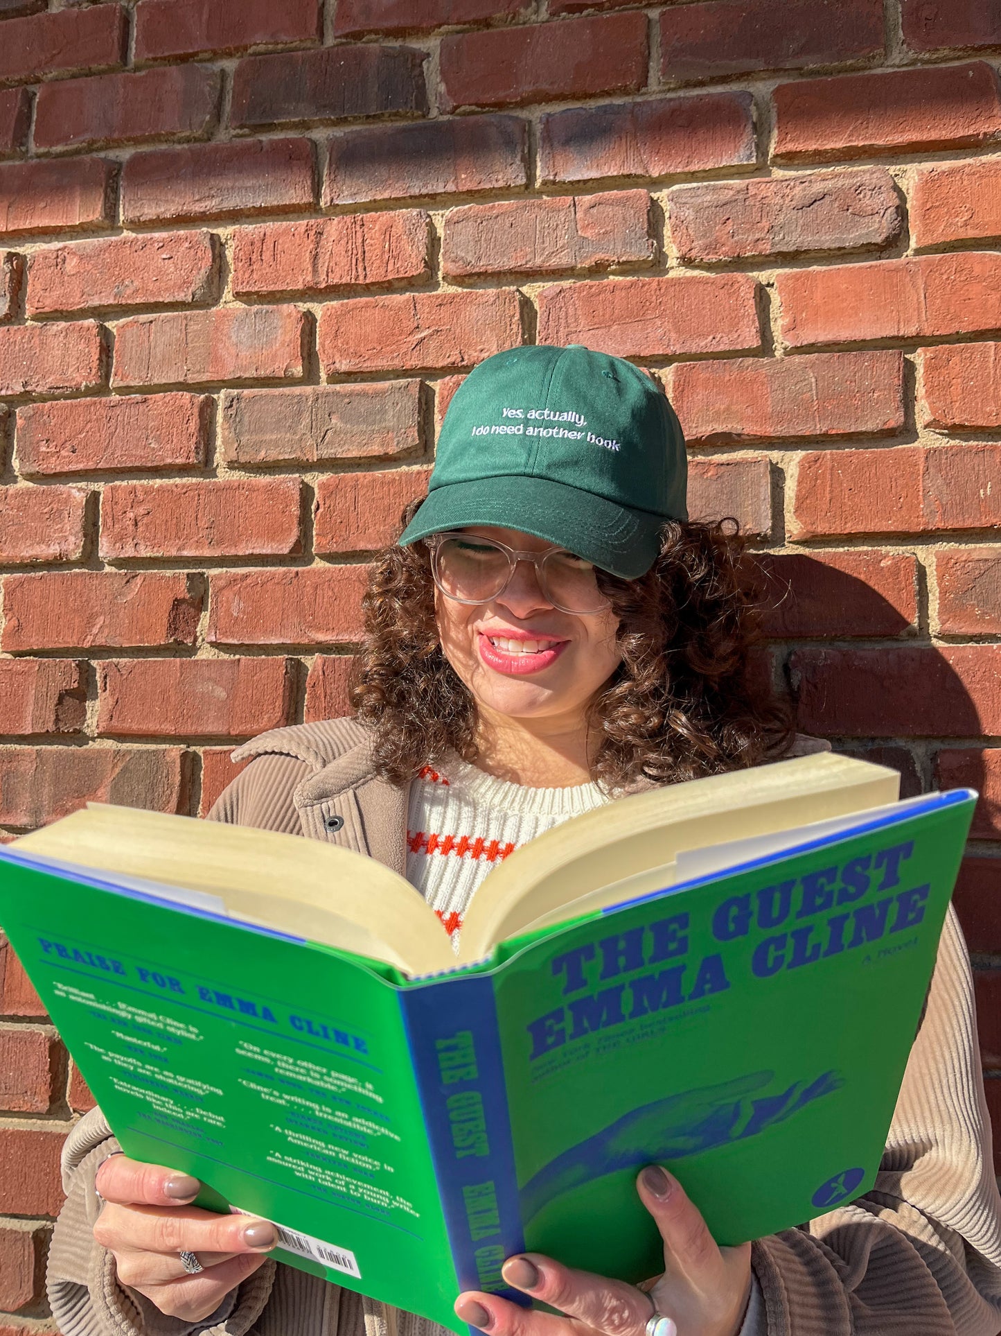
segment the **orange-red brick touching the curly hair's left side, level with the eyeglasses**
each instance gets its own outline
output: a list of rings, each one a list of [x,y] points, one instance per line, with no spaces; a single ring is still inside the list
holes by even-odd
[[[326,645],[362,639],[367,566],[235,570],[212,576],[214,645]]]

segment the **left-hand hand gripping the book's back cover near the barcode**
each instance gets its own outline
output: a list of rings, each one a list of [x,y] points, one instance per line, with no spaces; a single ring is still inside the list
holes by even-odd
[[[191,1206],[202,1184],[160,1165],[111,1156],[97,1170],[105,1205],[93,1237],[115,1256],[117,1277],[168,1317],[198,1323],[251,1276],[278,1242],[275,1226]],[[190,1276],[180,1253],[204,1271]]]

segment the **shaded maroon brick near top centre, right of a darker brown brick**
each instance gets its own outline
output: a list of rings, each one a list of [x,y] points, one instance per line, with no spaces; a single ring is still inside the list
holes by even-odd
[[[440,103],[455,111],[638,92],[646,63],[643,13],[463,32],[442,39]]]

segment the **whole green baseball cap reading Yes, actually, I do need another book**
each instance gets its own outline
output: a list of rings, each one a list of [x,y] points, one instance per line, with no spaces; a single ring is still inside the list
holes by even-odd
[[[639,367],[579,343],[480,362],[448,405],[427,500],[402,546],[431,533],[518,529],[635,580],[686,520],[674,410]]]

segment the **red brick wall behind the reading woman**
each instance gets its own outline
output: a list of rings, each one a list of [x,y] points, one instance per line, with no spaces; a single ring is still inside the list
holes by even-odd
[[[344,708],[463,370],[657,369],[801,727],[984,792],[1001,1121],[1001,19],[988,0],[0,0],[0,838],[204,812]],[[0,954],[0,1336],[88,1094]]]

